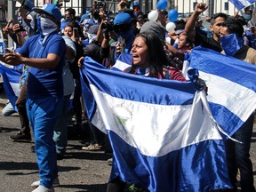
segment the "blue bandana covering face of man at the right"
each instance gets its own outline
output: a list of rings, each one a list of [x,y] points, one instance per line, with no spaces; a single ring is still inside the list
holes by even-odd
[[[234,56],[244,45],[244,39],[236,36],[236,34],[229,34],[228,36],[220,37],[220,44],[227,55]]]

